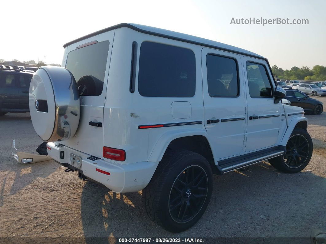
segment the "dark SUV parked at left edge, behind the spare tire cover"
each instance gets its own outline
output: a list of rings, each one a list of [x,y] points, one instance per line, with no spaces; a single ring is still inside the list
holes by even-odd
[[[33,74],[0,68],[0,116],[29,112],[28,93]]]

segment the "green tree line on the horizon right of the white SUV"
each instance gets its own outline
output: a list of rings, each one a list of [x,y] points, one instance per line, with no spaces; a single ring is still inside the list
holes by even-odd
[[[326,67],[322,65],[315,65],[312,69],[307,66],[298,68],[296,66],[291,69],[282,69],[277,65],[272,66],[274,76],[278,79],[294,79],[294,80],[326,80]]]

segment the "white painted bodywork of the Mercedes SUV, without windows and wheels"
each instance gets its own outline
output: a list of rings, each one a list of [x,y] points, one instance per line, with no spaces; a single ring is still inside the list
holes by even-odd
[[[261,63],[268,67],[259,55],[226,44],[205,40],[185,34],[143,27],[144,31],[157,32],[166,36],[177,36],[193,42],[215,45],[222,51],[205,46],[149,35],[134,29],[122,27],[96,36],[88,37],[66,47],[63,66],[67,62],[69,51],[77,46],[97,40],[109,40],[110,49],[105,71],[103,92],[99,96],[81,97],[81,119],[76,136],[62,142],[66,155],[75,153],[82,158],[80,170],[114,192],[139,191],[150,181],[158,162],[161,161],[167,147],[174,139],[185,136],[204,136],[212,150],[215,165],[218,160],[239,156],[248,152],[284,145],[293,123],[306,120],[302,115],[282,116],[295,107],[284,110],[274,98],[251,98],[248,93],[246,61]],[[145,97],[138,91],[138,72],[141,43],[144,41],[182,47],[193,51],[196,59],[196,88],[192,97]],[[129,91],[132,44],[136,47],[135,91]],[[232,52],[234,51],[234,53]],[[238,53],[236,53],[238,52]],[[237,97],[210,97],[207,91],[206,55],[233,58],[238,63],[240,93]],[[244,55],[255,55],[257,58]],[[262,57],[261,57],[262,58]],[[273,76],[268,69],[268,75]],[[273,83],[273,89],[275,84]],[[277,117],[249,120],[249,116]],[[290,117],[290,118],[289,118]],[[240,121],[207,124],[212,119],[244,118]],[[289,121],[290,120],[290,121]],[[88,123],[102,122],[102,127]],[[291,122],[293,121],[293,122]],[[173,124],[182,122],[201,122],[182,126],[139,129],[140,125]],[[292,127],[293,126],[293,127]],[[282,141],[282,144],[281,144]],[[286,143],[286,142],[285,142]],[[48,143],[49,155],[60,163],[71,164],[68,157],[60,159],[59,149],[54,143]],[[103,158],[103,146],[122,149],[126,152],[123,162]],[[88,160],[89,156],[100,158],[97,164]],[[99,173],[96,168],[112,172],[110,176]],[[136,176],[138,178],[136,178]],[[135,179],[137,179],[135,181]],[[108,181],[109,180],[109,181]]]

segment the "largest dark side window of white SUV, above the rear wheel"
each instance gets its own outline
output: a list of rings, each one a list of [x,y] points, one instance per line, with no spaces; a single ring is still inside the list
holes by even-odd
[[[138,91],[151,97],[192,97],[196,89],[195,54],[190,49],[143,42]]]

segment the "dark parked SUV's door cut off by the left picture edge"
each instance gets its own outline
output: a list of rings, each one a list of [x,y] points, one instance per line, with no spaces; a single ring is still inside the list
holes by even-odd
[[[16,85],[16,72],[2,72],[0,74],[0,108],[19,108],[19,95]]]

